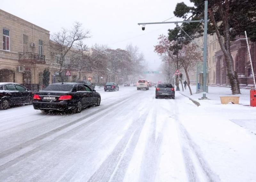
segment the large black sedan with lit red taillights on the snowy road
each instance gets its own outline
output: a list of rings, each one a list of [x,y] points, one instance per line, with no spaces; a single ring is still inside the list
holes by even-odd
[[[84,107],[100,106],[100,94],[80,83],[50,84],[33,96],[34,109],[80,113]]]

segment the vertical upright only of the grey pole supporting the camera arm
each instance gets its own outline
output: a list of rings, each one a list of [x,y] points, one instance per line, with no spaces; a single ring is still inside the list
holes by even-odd
[[[208,18],[208,1],[204,1],[204,72],[203,72],[203,97],[202,99],[207,99],[206,97],[206,58],[207,58],[207,18]]]

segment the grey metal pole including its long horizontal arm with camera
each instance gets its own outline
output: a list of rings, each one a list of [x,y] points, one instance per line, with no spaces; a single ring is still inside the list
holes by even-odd
[[[207,23],[208,23],[208,1],[204,1],[204,20],[189,20],[189,21],[169,21],[169,22],[150,22],[150,23],[138,23],[142,25],[142,30],[145,30],[145,25],[148,24],[166,24],[166,23],[198,23],[204,22],[204,71],[203,71],[203,97],[201,99],[207,99],[206,97],[206,71],[207,71]],[[179,80],[179,79],[178,79]]]

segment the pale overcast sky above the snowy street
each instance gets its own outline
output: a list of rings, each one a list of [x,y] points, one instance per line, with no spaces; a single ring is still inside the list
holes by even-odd
[[[173,17],[178,2],[189,0],[6,0],[1,9],[35,25],[57,32],[70,28],[75,21],[91,32],[92,38],[84,41],[88,46],[107,44],[110,48],[125,49],[127,44],[137,45],[145,55],[148,67],[156,70],[161,61],[154,53],[160,34],[167,35],[174,24],[146,25],[145,31],[137,25],[142,22],[159,22]],[[167,21],[176,21],[174,17]]]

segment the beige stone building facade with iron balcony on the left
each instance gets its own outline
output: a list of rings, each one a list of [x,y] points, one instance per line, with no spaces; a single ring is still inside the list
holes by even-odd
[[[50,52],[50,32],[24,19],[0,10],[0,82],[43,85],[43,71],[50,68],[50,84],[57,82],[60,64],[58,55]],[[70,68],[70,56],[64,62],[66,81],[77,78],[78,71]],[[82,71],[81,80],[95,82],[94,73]]]

